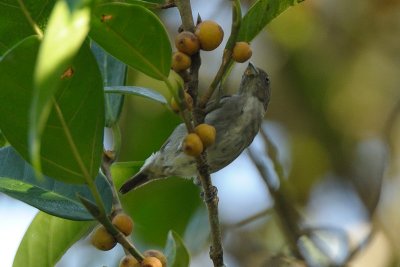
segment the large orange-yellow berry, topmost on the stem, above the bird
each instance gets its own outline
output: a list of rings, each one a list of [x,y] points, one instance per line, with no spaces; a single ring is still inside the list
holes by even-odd
[[[201,49],[211,51],[221,44],[224,31],[215,21],[205,20],[197,25],[195,35],[199,39]]]

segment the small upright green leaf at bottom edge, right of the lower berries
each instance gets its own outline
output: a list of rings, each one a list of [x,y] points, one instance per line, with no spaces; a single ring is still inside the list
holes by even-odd
[[[189,252],[182,238],[174,231],[168,233],[165,254],[169,267],[187,267],[190,265]]]

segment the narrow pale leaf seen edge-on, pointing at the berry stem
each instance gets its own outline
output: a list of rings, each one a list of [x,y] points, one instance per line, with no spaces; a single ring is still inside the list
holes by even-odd
[[[104,92],[108,94],[137,95],[157,101],[161,104],[168,103],[162,94],[151,89],[138,86],[108,86],[104,89]]]

